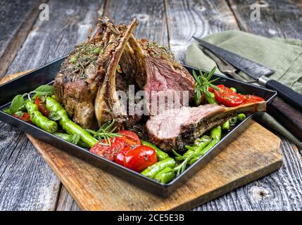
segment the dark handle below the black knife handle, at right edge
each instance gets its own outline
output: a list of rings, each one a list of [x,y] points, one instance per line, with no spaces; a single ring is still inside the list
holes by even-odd
[[[297,139],[302,141],[302,113],[296,108],[291,107],[276,96],[272,103],[268,104],[268,113],[275,117]]]

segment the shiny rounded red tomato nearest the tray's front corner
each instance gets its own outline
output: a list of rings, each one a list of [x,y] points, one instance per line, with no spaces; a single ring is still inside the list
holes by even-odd
[[[136,172],[141,172],[156,162],[156,151],[149,146],[137,146],[129,150],[124,158],[124,166]]]

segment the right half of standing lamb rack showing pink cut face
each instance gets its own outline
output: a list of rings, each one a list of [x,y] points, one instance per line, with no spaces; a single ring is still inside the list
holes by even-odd
[[[120,65],[146,91],[149,115],[188,106],[194,95],[194,79],[189,72],[174,59],[168,47],[154,41],[137,40],[132,35]]]

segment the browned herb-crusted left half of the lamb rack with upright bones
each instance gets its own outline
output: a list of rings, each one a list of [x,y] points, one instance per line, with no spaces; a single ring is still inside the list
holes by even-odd
[[[130,35],[137,26],[115,26],[118,34],[108,28],[108,18],[101,18],[96,33],[88,41],[75,46],[56,76],[56,98],[68,115],[85,129],[95,129],[115,118],[113,105],[119,105],[116,96],[115,70]],[[113,24],[113,23],[112,23]],[[125,79],[116,82],[127,86]],[[115,110],[122,110],[117,107]]]

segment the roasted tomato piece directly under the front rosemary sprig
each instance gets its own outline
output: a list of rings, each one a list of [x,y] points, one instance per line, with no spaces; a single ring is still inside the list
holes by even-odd
[[[113,161],[115,156],[125,148],[126,142],[120,137],[111,138],[111,145],[106,143],[105,140],[99,141],[92,148],[90,148],[90,152],[100,155],[103,158]]]

